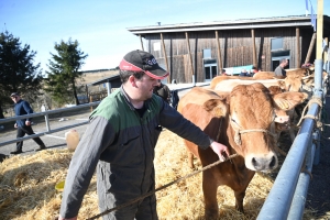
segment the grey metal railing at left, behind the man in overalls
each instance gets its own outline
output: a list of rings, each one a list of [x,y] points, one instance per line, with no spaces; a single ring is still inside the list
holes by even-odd
[[[41,132],[41,133],[33,134],[33,135],[28,135],[28,136],[24,136],[24,138],[14,139],[14,140],[6,141],[6,142],[0,142],[0,146],[4,146],[7,144],[16,143],[18,141],[25,141],[25,140],[29,140],[29,139],[34,139],[34,138],[37,138],[37,136],[43,136],[45,134],[51,134],[51,133],[55,133],[55,132],[63,131],[63,130],[66,130],[66,129],[70,129],[70,128],[87,124],[88,121],[85,121],[85,122],[75,123],[75,124],[70,124],[70,125],[66,125],[66,127],[62,127],[62,128],[52,130],[51,125],[50,125],[48,116],[54,114],[54,113],[62,113],[62,112],[66,112],[66,111],[79,110],[79,109],[84,109],[86,107],[98,106],[99,103],[100,103],[100,101],[97,101],[97,102],[91,102],[91,103],[79,105],[79,106],[76,106],[76,107],[43,111],[43,112],[37,112],[37,113],[32,113],[32,114],[24,114],[24,116],[19,116],[19,117],[11,117],[11,118],[8,118],[8,119],[0,119],[0,124],[1,124],[1,123],[10,122],[10,121],[16,121],[19,119],[35,118],[35,117],[44,116],[45,117],[45,123],[46,123],[46,131],[45,132]]]

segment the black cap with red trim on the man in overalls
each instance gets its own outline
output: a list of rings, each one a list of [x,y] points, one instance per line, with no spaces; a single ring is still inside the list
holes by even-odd
[[[121,70],[144,72],[154,79],[164,79],[169,75],[157,64],[152,54],[139,50],[128,53],[120,62],[119,68]]]

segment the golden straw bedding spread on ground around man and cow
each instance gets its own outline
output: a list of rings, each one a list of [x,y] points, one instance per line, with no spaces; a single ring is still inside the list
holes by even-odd
[[[1,219],[52,220],[58,216],[61,191],[55,185],[65,179],[72,153],[67,150],[42,151],[34,155],[12,156],[0,164]],[[197,161],[196,161],[197,163]],[[201,168],[200,165],[197,167]],[[155,156],[156,188],[191,173],[180,138],[164,131]],[[256,174],[244,199],[245,215],[234,209],[233,191],[221,186],[218,204],[221,219],[255,219],[273,183]],[[160,219],[204,219],[201,173],[161,190],[157,196]],[[96,177],[84,198],[78,219],[99,213]],[[304,219],[311,219],[305,215]]]

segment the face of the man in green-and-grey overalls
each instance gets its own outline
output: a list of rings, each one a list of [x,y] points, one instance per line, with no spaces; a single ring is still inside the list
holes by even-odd
[[[153,96],[153,89],[158,85],[158,80],[154,79],[146,74],[141,79],[135,79],[139,88],[140,100],[147,100]]]

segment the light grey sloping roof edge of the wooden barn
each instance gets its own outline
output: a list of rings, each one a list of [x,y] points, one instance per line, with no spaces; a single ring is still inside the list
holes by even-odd
[[[323,16],[323,22],[330,24],[330,18]],[[212,31],[212,30],[235,30],[235,29],[262,29],[262,28],[285,28],[285,26],[310,26],[310,15],[290,15],[290,16],[273,16],[258,19],[241,19],[241,20],[223,20],[213,22],[195,22],[164,24],[153,26],[128,28],[135,35],[151,33],[168,33],[168,32],[191,32],[191,31]],[[327,25],[323,25],[327,29]]]

